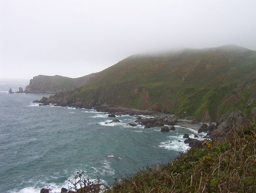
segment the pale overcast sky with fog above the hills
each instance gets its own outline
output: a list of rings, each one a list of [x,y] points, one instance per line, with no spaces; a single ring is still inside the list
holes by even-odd
[[[173,48],[256,50],[255,18],[255,0],[0,0],[0,79],[81,77]]]

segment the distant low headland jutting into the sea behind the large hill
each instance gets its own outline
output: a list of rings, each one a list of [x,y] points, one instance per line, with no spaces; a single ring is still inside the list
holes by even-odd
[[[90,80],[96,73],[92,73],[79,78],[69,78],[64,76],[38,75],[30,80],[26,86],[25,93],[56,93],[80,87]]]

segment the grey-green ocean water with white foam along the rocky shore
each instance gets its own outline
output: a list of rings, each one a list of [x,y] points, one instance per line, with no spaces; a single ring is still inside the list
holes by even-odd
[[[160,132],[161,127],[127,126],[136,119],[129,115],[116,117],[120,123],[105,124],[115,118],[93,109],[32,103],[47,94],[8,93],[20,86],[25,90],[28,83],[0,81],[1,193],[60,191],[67,188],[64,179],[72,179],[77,171],[111,184],[119,175],[168,162],[188,148],[183,135],[197,133],[179,126],[168,133]]]

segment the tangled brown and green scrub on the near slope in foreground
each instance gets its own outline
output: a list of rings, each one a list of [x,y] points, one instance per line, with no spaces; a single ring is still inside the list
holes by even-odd
[[[105,193],[256,192],[256,124],[204,141],[167,164],[121,177]],[[88,191],[88,192],[99,192]]]

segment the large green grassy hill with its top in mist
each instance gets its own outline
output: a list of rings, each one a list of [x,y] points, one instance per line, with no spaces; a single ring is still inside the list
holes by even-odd
[[[225,45],[135,54],[65,96],[215,121],[256,106],[255,78],[256,51]]]

